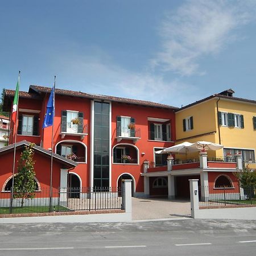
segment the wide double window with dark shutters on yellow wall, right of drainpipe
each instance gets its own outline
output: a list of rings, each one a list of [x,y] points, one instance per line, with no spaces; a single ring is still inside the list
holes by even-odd
[[[243,115],[218,112],[218,123],[222,126],[244,128]]]

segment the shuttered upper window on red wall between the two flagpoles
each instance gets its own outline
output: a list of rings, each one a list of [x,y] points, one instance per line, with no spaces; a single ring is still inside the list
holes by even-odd
[[[19,115],[18,134],[19,135],[39,135],[38,134],[39,119],[35,115]]]

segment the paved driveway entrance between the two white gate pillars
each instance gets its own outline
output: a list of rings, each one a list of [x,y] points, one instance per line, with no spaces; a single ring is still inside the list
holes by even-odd
[[[187,200],[139,199],[132,197],[132,204],[133,220],[191,216],[191,205],[190,201]]]

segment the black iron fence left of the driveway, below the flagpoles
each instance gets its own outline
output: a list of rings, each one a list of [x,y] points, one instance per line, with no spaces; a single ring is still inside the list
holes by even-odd
[[[0,214],[74,212],[77,210],[122,209],[121,188],[42,188],[33,193],[5,191],[0,194]]]

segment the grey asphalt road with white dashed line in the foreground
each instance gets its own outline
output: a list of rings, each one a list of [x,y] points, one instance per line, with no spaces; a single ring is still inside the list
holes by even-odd
[[[0,255],[255,255],[256,222],[2,224]]]

